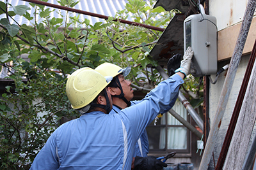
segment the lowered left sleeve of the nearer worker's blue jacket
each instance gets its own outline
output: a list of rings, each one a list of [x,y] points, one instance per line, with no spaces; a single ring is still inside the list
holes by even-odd
[[[56,132],[47,139],[44,147],[36,155],[35,160],[32,163],[31,170],[37,169],[58,169],[60,164],[58,162],[58,152],[55,139]]]

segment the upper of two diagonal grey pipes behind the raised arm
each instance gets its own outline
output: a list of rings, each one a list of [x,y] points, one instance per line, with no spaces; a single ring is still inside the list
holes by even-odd
[[[161,76],[164,78],[164,80],[169,78],[169,76],[165,73],[165,71],[163,70],[163,68],[161,66],[157,66],[156,69],[161,74]],[[195,120],[195,122],[198,125],[198,127],[202,131],[204,131],[204,122],[203,122],[202,118],[198,115],[198,113],[194,110],[194,108],[188,102],[186,97],[184,97],[184,95],[180,91],[179,91],[178,98],[179,98],[180,102],[184,105],[186,110],[188,110],[188,112],[190,113],[191,117]]]

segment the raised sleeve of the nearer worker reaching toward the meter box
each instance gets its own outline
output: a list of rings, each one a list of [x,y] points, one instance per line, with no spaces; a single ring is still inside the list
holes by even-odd
[[[184,83],[182,78],[174,74],[159,83],[140,103],[120,111],[120,116],[124,120],[127,132],[131,131],[131,138],[138,140],[147,125],[159,113],[164,113],[167,109],[170,110],[173,101],[177,99],[179,87],[182,83]]]

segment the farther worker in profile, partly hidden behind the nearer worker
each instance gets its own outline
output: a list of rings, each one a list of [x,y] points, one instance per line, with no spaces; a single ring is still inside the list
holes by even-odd
[[[131,101],[131,99],[134,97],[131,82],[129,80],[125,80],[125,76],[127,76],[131,71],[131,67],[126,67],[125,69],[122,69],[115,64],[105,62],[104,64],[100,64],[100,66],[96,67],[95,71],[102,74],[102,76],[113,76],[113,80],[108,85],[108,91],[110,92],[113,101],[113,109],[110,111],[109,114],[119,113],[120,110],[127,108],[128,106],[140,103],[140,101]],[[166,109],[166,111],[172,108],[177,97],[178,95],[173,98],[173,102],[170,103],[170,106]],[[166,111],[164,111],[164,113]],[[141,134],[134,148],[133,157],[134,162],[137,163],[132,164],[134,170],[141,169],[141,166],[145,166],[147,167],[147,169],[156,169],[155,167],[157,166],[157,164],[159,164],[160,160],[157,160],[156,157],[152,156],[147,157],[148,151],[148,136],[147,131],[145,130]],[[146,161],[145,159],[150,159],[150,161],[147,161],[148,164],[143,163]],[[138,163],[143,165],[140,165]]]

